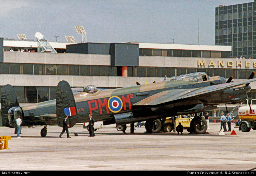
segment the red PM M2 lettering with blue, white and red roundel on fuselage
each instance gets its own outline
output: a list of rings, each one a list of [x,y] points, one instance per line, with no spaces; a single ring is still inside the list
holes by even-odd
[[[107,98],[104,98],[103,102],[100,99],[89,100],[88,105],[89,105],[90,114],[92,114],[93,110],[97,110],[97,109],[99,109],[100,114],[102,114],[103,108],[106,108],[106,113],[109,113],[109,110],[114,113],[119,112],[122,110],[123,107],[124,107],[124,110],[126,110],[126,103],[128,103],[129,109],[132,109],[131,100],[130,100],[131,98],[133,98],[133,94],[128,94],[126,95],[126,97],[122,95],[122,99],[118,96],[112,96],[108,99],[108,101],[107,101]]]

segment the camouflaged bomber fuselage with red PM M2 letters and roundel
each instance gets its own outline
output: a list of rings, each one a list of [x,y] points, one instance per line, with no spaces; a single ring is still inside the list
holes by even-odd
[[[221,84],[223,80],[219,77],[210,77],[210,80],[202,82],[171,80],[112,90],[98,90],[93,94],[81,92],[74,96],[78,115],[77,123],[89,121],[89,114],[93,114],[94,119],[99,121],[111,120],[115,114],[131,111],[136,114],[136,117],[157,118],[161,116],[159,112],[154,114],[147,109],[135,108],[133,104],[166,90],[195,89],[210,86],[210,82]],[[22,110],[24,126],[57,124],[55,100],[24,106]]]

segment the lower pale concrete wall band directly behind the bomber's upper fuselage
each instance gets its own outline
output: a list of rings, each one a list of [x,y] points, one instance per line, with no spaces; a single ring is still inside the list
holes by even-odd
[[[84,87],[86,85],[129,87],[135,86],[136,81],[145,84],[146,81],[147,83],[161,82],[164,78],[0,74],[1,86],[6,84],[12,86],[57,86],[62,80],[67,81],[71,87]]]

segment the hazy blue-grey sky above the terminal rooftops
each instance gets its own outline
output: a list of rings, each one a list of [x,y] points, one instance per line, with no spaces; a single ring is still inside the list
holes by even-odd
[[[41,32],[48,41],[66,42],[82,36],[87,42],[147,42],[215,44],[215,7],[253,0],[0,0],[0,37],[35,39]]]

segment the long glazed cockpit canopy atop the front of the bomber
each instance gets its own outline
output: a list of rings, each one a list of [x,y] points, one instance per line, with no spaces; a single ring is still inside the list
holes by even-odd
[[[209,80],[209,76],[205,72],[197,72],[197,73],[182,74],[177,77],[171,77],[171,80],[200,82],[200,81]]]

